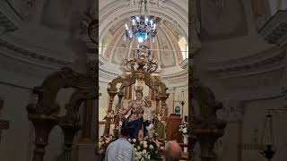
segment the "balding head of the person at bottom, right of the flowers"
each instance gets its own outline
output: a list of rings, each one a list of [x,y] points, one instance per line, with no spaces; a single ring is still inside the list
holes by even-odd
[[[181,157],[181,148],[176,140],[171,140],[165,144],[164,159],[165,161],[178,161]]]

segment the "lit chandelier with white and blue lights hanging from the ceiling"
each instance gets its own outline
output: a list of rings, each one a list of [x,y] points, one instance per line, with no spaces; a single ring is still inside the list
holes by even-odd
[[[144,3],[144,14],[142,15],[142,7]],[[147,7],[146,7],[147,0],[141,0],[139,7],[140,7],[140,14],[131,17],[131,21],[129,24],[125,24],[126,34],[125,40],[128,38],[132,40],[133,38],[137,39],[137,42],[141,45],[143,42],[149,38],[152,38],[152,43],[155,41],[155,36],[157,32],[157,24],[158,20],[153,16],[148,16]]]

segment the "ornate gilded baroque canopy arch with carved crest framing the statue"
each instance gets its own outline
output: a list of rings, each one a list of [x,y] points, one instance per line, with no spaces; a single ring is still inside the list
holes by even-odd
[[[109,137],[109,131],[111,123],[114,121],[114,139],[118,137],[118,130],[120,128],[120,111],[123,109],[123,97],[125,95],[125,89],[134,85],[137,81],[142,81],[149,89],[152,89],[155,93],[156,109],[155,109],[155,125],[154,129],[159,133],[159,139],[166,139],[165,123],[167,120],[168,108],[166,100],[169,97],[167,93],[167,87],[164,82],[161,81],[159,76],[153,75],[158,69],[158,62],[153,60],[152,52],[148,47],[141,47],[134,51],[134,57],[126,59],[124,61],[125,76],[118,76],[111,82],[109,82],[108,94],[109,94],[109,106],[108,114],[106,116],[106,123],[104,128],[104,136]],[[117,88],[120,84],[119,88]],[[114,113],[114,99],[118,97],[116,113]],[[159,119],[161,118],[161,119]],[[101,152],[105,152],[105,148],[101,147]]]

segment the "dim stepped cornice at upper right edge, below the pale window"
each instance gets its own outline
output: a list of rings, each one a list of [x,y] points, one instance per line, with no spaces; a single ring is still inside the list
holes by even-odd
[[[284,46],[287,44],[287,10],[279,10],[259,30],[266,42]]]

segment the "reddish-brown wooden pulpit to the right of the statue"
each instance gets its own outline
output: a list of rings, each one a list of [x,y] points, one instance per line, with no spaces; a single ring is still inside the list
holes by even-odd
[[[177,140],[178,143],[183,142],[182,135],[178,131],[179,125],[181,125],[182,119],[180,114],[170,114],[170,118],[167,123],[167,140]]]

